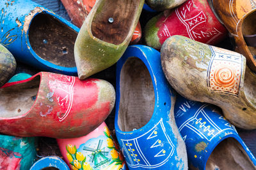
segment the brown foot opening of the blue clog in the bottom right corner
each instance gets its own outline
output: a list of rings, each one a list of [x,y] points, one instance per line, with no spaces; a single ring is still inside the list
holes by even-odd
[[[224,139],[214,148],[205,169],[255,169],[243,146],[234,138]]]

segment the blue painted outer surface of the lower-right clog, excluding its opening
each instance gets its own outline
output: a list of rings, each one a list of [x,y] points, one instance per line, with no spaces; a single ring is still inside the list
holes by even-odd
[[[205,169],[206,162],[214,148],[224,139],[234,138],[243,146],[256,166],[255,157],[237,134],[234,125],[229,124],[224,117],[218,114],[218,110],[211,104],[189,101],[177,94],[174,115],[180,134],[186,143],[189,164],[193,164],[198,169]],[[205,145],[205,149],[196,152],[198,144]]]

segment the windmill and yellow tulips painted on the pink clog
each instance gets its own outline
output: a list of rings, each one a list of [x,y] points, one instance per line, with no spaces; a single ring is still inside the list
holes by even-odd
[[[93,148],[92,143],[97,147]],[[104,127],[104,135],[86,141],[78,149],[76,145],[68,144],[67,159],[73,170],[120,170],[124,168],[124,157],[117,148],[108,127]],[[100,162],[99,157],[104,159]],[[105,164],[104,167],[102,167],[103,164]]]

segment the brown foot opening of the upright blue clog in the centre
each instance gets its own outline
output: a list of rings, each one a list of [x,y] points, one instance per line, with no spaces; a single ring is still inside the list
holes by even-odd
[[[120,73],[118,126],[121,131],[140,129],[154,112],[154,87],[145,64],[138,58],[126,60]]]

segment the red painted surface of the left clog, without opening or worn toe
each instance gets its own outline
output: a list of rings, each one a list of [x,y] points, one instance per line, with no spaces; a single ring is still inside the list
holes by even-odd
[[[113,101],[102,98],[99,101],[97,82],[102,80],[93,78],[79,80],[74,76],[41,72],[1,88],[28,82],[36,76],[41,76],[41,81],[34,105],[19,117],[0,118],[0,132],[12,136],[76,138],[97,128],[112,110]],[[63,118],[61,113],[67,117]]]

